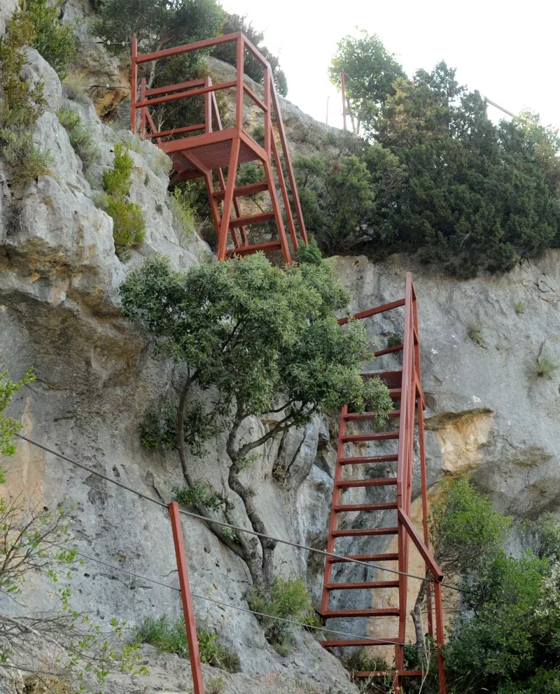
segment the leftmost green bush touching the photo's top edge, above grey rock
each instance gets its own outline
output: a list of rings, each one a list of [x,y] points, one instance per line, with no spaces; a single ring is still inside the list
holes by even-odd
[[[33,23],[32,43],[43,58],[64,79],[69,63],[76,55],[76,24],[63,24],[59,19],[64,0],[20,0],[18,9]]]

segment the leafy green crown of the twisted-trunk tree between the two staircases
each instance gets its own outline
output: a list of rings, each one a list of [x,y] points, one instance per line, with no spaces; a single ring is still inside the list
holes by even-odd
[[[125,316],[139,318],[157,350],[189,364],[201,388],[215,386],[215,413],[262,415],[286,402],[290,423],[348,402],[384,414],[391,400],[377,379],[363,381],[367,336],[338,325],[348,295],[327,263],[272,267],[264,255],[199,264],[176,273],[154,255],[121,286]]]

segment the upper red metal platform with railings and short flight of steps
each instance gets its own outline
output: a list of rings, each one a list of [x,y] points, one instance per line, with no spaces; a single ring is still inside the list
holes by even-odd
[[[157,89],[147,89],[145,78],[141,79],[140,98],[138,99],[138,66],[154,60],[180,55],[194,50],[211,48],[221,43],[235,42],[237,44],[237,69],[236,78],[230,82],[212,84],[209,78],[201,80],[190,80],[168,87],[158,87]],[[258,59],[264,71],[264,100],[260,99],[244,83],[244,54],[249,50]],[[216,102],[216,92],[218,90],[235,90],[235,126],[223,129],[218,104]],[[197,43],[167,48],[146,55],[138,55],[138,44],[135,38],[132,39],[132,104],[130,127],[132,132],[137,132],[138,114],[140,112],[139,127],[144,136],[155,140],[158,146],[172,157],[174,164],[174,180],[184,180],[186,178],[204,178],[209,197],[212,220],[216,227],[218,236],[218,260],[225,260],[229,255],[248,255],[258,250],[281,250],[283,260],[291,264],[290,243],[284,228],[283,212],[286,214],[286,223],[290,235],[291,247],[297,249],[298,243],[303,241],[307,244],[307,232],[305,230],[300,199],[297,195],[295,185],[295,174],[288,151],[288,141],[286,131],[283,126],[280,113],[279,100],[274,88],[272,68],[264,56],[248,41],[244,34],[227,34],[216,38],[209,38]],[[265,125],[265,146],[261,147],[255,140],[244,131],[243,128],[243,106],[244,95],[247,95],[264,114]],[[159,131],[155,128],[151,118],[149,108],[158,104],[167,104],[178,99],[188,99],[191,97],[204,97],[204,123],[185,125],[184,127],[173,130]],[[276,143],[273,129],[274,125],[278,131],[279,145]],[[213,126],[216,129],[213,130]],[[190,135],[189,135],[190,134]],[[178,135],[183,135],[179,139]],[[288,185],[284,179],[283,167],[286,167],[288,175]],[[272,210],[260,215],[241,215],[239,199],[254,192],[248,192],[246,186],[236,187],[235,176],[237,167],[244,162],[260,161],[265,171],[265,181],[259,185],[259,192],[268,192]],[[224,176],[223,169],[227,169]],[[214,190],[214,176],[216,171],[220,190]],[[276,180],[278,182],[282,206],[276,191]],[[290,199],[291,194],[291,199]],[[222,203],[220,210],[218,201]],[[295,210],[294,214],[291,208]],[[235,216],[232,212],[235,211]],[[253,243],[249,241],[247,227],[260,222],[272,221],[276,223],[278,240],[267,241],[266,243]],[[295,220],[297,220],[297,229]],[[237,236],[237,229],[241,232],[241,241]],[[297,233],[299,231],[299,234]],[[231,241],[233,248],[228,248]]]

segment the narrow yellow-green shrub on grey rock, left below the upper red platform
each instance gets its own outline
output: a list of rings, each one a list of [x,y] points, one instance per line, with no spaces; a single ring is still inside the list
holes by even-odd
[[[146,235],[146,218],[141,207],[127,200],[133,167],[134,161],[128,154],[127,145],[117,143],[113,168],[103,172],[103,187],[107,193],[103,206],[113,218],[113,239],[117,255],[128,248],[139,246]]]

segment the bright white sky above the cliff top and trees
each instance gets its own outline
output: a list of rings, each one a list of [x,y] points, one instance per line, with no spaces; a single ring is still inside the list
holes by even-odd
[[[558,0],[222,0],[247,14],[279,52],[288,99],[317,120],[342,127],[342,101],[328,81],[336,43],[356,27],[378,34],[405,71],[432,69],[441,59],[460,84],[517,113],[528,106],[560,127]],[[500,118],[489,106],[489,116]]]

